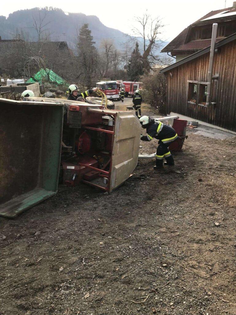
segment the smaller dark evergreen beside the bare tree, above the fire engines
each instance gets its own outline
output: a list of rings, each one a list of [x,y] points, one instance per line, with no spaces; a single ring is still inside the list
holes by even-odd
[[[137,81],[139,76],[143,75],[143,60],[139,51],[138,42],[136,42],[135,49],[129,59],[127,72],[131,81]]]

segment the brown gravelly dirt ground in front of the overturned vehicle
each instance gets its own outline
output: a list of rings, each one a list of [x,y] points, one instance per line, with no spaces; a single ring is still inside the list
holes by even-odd
[[[177,172],[141,160],[110,195],[59,186],[0,218],[0,314],[236,314],[235,152],[188,130]]]

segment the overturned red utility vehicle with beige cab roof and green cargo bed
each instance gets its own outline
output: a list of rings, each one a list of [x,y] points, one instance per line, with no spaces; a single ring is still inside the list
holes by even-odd
[[[0,108],[0,215],[54,195],[58,179],[112,192],[137,166],[140,123],[132,112],[47,98],[0,99]]]

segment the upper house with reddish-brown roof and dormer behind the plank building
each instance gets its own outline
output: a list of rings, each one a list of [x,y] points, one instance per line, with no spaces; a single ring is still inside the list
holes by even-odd
[[[233,7],[211,11],[185,28],[161,52],[179,61],[211,45],[212,24],[217,23],[216,43],[236,32],[236,2]]]

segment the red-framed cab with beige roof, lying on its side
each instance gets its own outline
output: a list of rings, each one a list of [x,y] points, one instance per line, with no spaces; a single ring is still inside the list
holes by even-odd
[[[60,181],[111,192],[138,163],[140,123],[132,112],[65,101]]]

